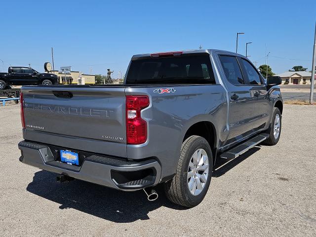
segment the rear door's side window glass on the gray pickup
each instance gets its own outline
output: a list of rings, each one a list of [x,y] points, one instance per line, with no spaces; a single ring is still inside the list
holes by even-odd
[[[226,78],[234,85],[244,84],[237,58],[234,56],[224,55],[220,55],[219,57],[224,68]]]

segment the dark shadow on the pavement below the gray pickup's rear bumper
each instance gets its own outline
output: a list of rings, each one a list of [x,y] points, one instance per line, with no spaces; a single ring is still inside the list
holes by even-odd
[[[186,209],[169,202],[161,186],[155,190],[158,199],[148,201],[143,190],[123,192],[81,180],[59,183],[56,174],[45,170],[36,172],[27,187],[27,191],[59,203],[60,209],[73,208],[117,223],[147,220],[147,214],[161,206]]]

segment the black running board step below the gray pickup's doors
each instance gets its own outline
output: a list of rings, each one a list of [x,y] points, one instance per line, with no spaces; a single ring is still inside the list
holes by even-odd
[[[250,148],[253,148],[254,146],[258,145],[260,142],[266,140],[269,137],[268,133],[261,133],[258,136],[255,136],[244,143],[238,145],[237,147],[234,147],[233,149],[223,153],[220,155],[220,158],[224,159],[235,159],[238,156],[240,156],[242,153],[245,153]]]

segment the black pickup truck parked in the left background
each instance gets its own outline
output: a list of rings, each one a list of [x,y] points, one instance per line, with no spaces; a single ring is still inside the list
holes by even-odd
[[[28,67],[9,67],[7,73],[0,73],[0,90],[9,85],[56,85],[58,77],[54,74],[39,73]]]

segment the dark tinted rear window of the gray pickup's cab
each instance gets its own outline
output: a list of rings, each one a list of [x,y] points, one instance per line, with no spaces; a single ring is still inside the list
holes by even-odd
[[[215,84],[209,54],[132,60],[126,84]]]

